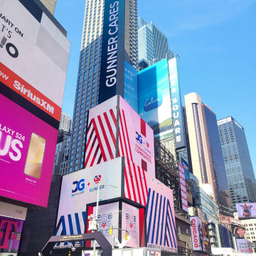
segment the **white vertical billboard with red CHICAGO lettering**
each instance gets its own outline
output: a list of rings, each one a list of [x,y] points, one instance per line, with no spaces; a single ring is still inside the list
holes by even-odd
[[[203,239],[203,226],[201,218],[197,216],[190,217],[192,221],[191,225],[191,237],[193,250],[206,251],[206,246]]]

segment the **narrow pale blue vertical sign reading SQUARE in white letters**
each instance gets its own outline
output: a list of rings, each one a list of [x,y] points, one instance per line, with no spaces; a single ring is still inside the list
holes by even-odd
[[[168,60],[169,80],[171,85],[171,105],[174,122],[174,137],[176,149],[186,146],[185,126],[183,117],[183,108],[181,105],[181,90],[178,84],[177,60],[171,58]]]

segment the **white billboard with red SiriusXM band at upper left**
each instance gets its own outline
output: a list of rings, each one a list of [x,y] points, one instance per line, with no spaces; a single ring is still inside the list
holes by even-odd
[[[38,6],[36,14],[20,1],[1,0],[0,7],[1,82],[59,121],[70,42]]]

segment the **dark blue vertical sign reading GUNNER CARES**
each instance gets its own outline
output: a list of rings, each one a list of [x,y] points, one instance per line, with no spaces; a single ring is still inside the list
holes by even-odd
[[[102,31],[99,103],[124,95],[125,0],[106,0]]]

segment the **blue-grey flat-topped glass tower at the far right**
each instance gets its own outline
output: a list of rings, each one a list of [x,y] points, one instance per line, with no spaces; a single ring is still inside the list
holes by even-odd
[[[255,175],[248,150],[245,130],[233,117],[218,120],[220,143],[233,204],[256,202]]]

